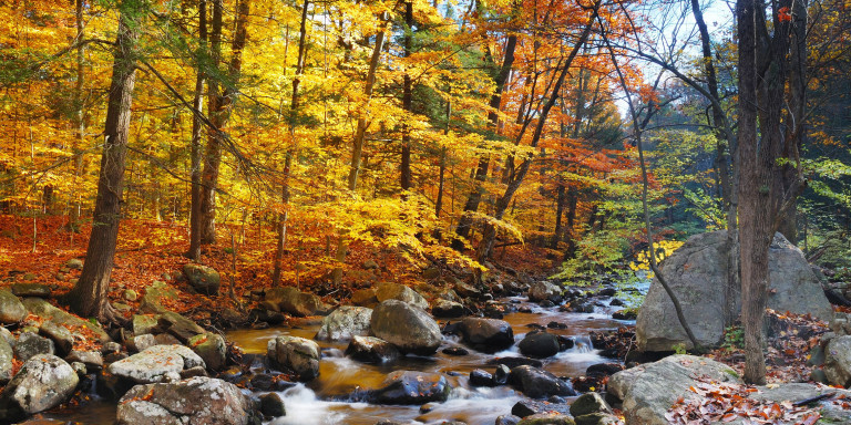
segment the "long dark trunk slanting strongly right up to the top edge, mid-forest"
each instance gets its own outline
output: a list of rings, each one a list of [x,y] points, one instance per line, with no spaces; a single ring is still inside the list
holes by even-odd
[[[591,29],[594,27],[594,21],[597,18],[597,12],[599,10],[599,2],[594,3],[594,10],[592,12],[592,15],[588,18],[587,23],[585,24],[585,28],[582,31],[582,35],[580,35],[580,39],[576,41],[576,44],[574,44],[573,49],[571,50],[571,53],[567,55],[567,58],[562,62],[562,70],[558,73],[558,77],[553,85],[552,92],[550,93],[550,97],[547,99],[544,106],[541,108],[541,113],[537,117],[537,124],[535,125],[535,131],[532,134],[532,141],[530,142],[531,147],[537,147],[539,142],[541,142],[541,136],[544,133],[544,126],[546,125],[546,118],[550,115],[550,111],[555,105],[555,101],[558,100],[558,96],[562,92],[562,85],[564,85],[564,81],[567,76],[567,72],[571,69],[571,65],[573,64],[573,60],[576,59],[576,54],[580,52],[580,49],[585,44],[585,42],[588,40],[588,35],[591,34]],[[521,139],[523,137],[523,132],[521,132],[516,139]],[[493,217],[498,220],[502,220],[502,218],[505,216],[505,210],[507,210],[509,205],[511,205],[511,200],[514,197],[514,194],[517,191],[520,186],[523,184],[523,179],[526,177],[526,174],[529,173],[529,168],[532,166],[532,158],[525,158],[523,159],[523,163],[520,165],[517,172],[513,176],[513,178],[509,182],[507,187],[505,188],[505,191],[500,196],[499,199],[496,199],[496,205],[494,207],[494,215]],[[493,245],[496,241],[496,227],[492,224],[488,224],[484,227],[484,235],[482,236],[482,242],[479,246],[479,262],[484,263],[490,257],[491,251],[493,250]]]

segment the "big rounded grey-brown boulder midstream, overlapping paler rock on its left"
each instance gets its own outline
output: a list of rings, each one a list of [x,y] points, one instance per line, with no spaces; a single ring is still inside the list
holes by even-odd
[[[369,329],[373,336],[407,353],[432,354],[442,340],[438,322],[426,310],[398,300],[378,304],[372,311]]]

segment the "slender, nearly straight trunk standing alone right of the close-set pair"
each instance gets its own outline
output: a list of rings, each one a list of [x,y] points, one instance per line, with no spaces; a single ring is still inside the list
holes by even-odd
[[[280,188],[280,201],[284,211],[278,217],[278,240],[275,249],[274,272],[271,283],[277,287],[280,284],[281,259],[284,258],[284,247],[287,241],[287,224],[289,221],[289,177],[293,173],[293,156],[296,155],[296,126],[298,125],[299,91],[301,84],[301,74],[305,71],[305,54],[307,51],[307,7],[310,0],[305,0],[301,6],[301,24],[298,35],[298,59],[296,61],[296,75],[293,79],[293,96],[289,102],[289,141],[293,144],[287,149],[287,157],[284,160],[284,182]]]

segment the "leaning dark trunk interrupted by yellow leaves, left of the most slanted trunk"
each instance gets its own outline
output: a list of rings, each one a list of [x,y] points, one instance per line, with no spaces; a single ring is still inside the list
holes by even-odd
[[[502,105],[502,92],[505,89],[505,82],[509,80],[511,66],[514,64],[514,50],[516,46],[517,37],[510,34],[507,41],[505,42],[502,66],[500,66],[500,72],[496,74],[496,77],[493,81],[495,87],[489,104],[493,111],[488,114],[488,121],[490,122],[490,125],[493,126],[494,132],[496,131],[500,121],[500,115],[496,112],[500,110],[500,105]],[[490,155],[485,154],[479,157],[479,165],[475,168],[473,188],[466,198],[466,204],[464,204],[464,214],[459,219],[458,226],[455,226],[455,235],[458,235],[458,237],[452,240],[452,248],[458,251],[464,249],[463,239],[470,237],[470,230],[473,226],[473,216],[469,212],[479,210],[479,204],[481,204],[482,196],[484,195],[484,187],[482,187],[482,183],[484,183],[485,178],[488,178],[488,168],[490,163]]]

